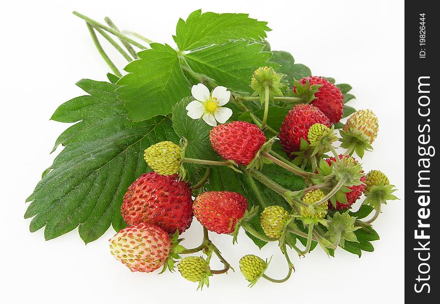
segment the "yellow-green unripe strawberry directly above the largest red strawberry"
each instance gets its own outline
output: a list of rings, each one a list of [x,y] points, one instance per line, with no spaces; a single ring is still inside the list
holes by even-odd
[[[171,141],[161,141],[145,150],[144,159],[154,172],[160,175],[173,175],[182,163],[180,147]]]

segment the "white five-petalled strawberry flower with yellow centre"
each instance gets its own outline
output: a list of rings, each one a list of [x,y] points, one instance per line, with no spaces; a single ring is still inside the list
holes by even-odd
[[[191,94],[195,100],[186,106],[190,118],[202,117],[208,125],[215,127],[217,122],[224,124],[232,116],[230,108],[222,107],[231,96],[231,92],[225,87],[218,86],[210,94],[204,84],[198,84],[192,86]]]

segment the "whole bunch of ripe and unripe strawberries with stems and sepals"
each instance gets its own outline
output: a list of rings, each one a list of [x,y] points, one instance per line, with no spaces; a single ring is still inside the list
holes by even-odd
[[[251,87],[262,101],[274,101],[280,96],[280,79],[272,68],[261,67],[254,72]],[[395,199],[391,195],[395,189],[385,174],[378,170],[364,174],[352,157],[353,153],[362,157],[364,150],[371,149],[378,133],[378,119],[370,110],[356,111],[340,130],[340,138],[333,127],[343,117],[344,99],[338,87],[322,77],[307,77],[295,81],[291,94],[292,100],[296,98],[298,102],[287,113],[278,136],[267,140],[264,127],[246,121],[218,125],[209,136],[212,148],[225,160],[223,165],[249,172],[282,195],[291,210],[278,205],[249,209],[243,194],[204,191],[204,182],[209,179],[192,187],[183,178],[184,144],[158,142],[145,150],[144,158],[152,171],[139,176],[124,196],[121,214],[128,226],[110,239],[112,255],[131,271],[140,272],[152,272],[162,266],[163,271],[173,270],[179,260],[181,275],[201,287],[209,283],[208,277],[231,268],[209,240],[208,231],[231,234],[235,240],[243,227],[263,241],[278,241],[289,265],[288,276],[275,280],[264,274],[267,260],[245,255],[240,269],[252,286],[260,277],[274,282],[288,279],[293,264],[286,244],[301,256],[310,251],[312,241],[317,241],[327,253],[337,246],[344,247],[346,241],[356,242],[354,232],[376,219],[381,204]],[[278,140],[287,158],[272,150]],[[347,148],[345,154],[336,153],[332,146],[336,140]],[[267,162],[303,177],[308,187],[294,192],[268,179],[259,172]],[[364,203],[376,210],[375,217],[367,222],[348,213],[362,194],[367,197]],[[249,225],[249,220],[257,215],[264,235]],[[199,247],[186,249],[178,237],[189,228],[193,216],[204,227],[205,238]],[[306,248],[297,248],[291,234],[307,238]],[[198,251],[206,257],[180,256]],[[210,269],[213,254],[223,262],[224,270]]]

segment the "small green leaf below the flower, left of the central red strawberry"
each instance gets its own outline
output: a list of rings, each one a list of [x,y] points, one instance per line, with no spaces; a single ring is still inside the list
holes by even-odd
[[[186,97],[174,105],[171,119],[174,131],[180,138],[186,139],[185,157],[210,161],[218,160],[219,156],[211,147],[209,140],[209,131],[211,131],[213,127],[205,123],[202,119],[192,119],[187,115],[185,108],[188,103],[193,100],[194,98],[192,97]],[[199,171],[202,166],[184,163],[184,167],[187,171],[188,178],[194,182],[194,178],[198,177],[197,174],[194,173]]]

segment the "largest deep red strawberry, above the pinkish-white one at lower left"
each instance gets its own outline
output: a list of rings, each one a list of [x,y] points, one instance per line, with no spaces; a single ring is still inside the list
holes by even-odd
[[[192,221],[191,189],[177,174],[144,173],[128,187],[121,214],[128,225],[149,223],[182,233]]]

